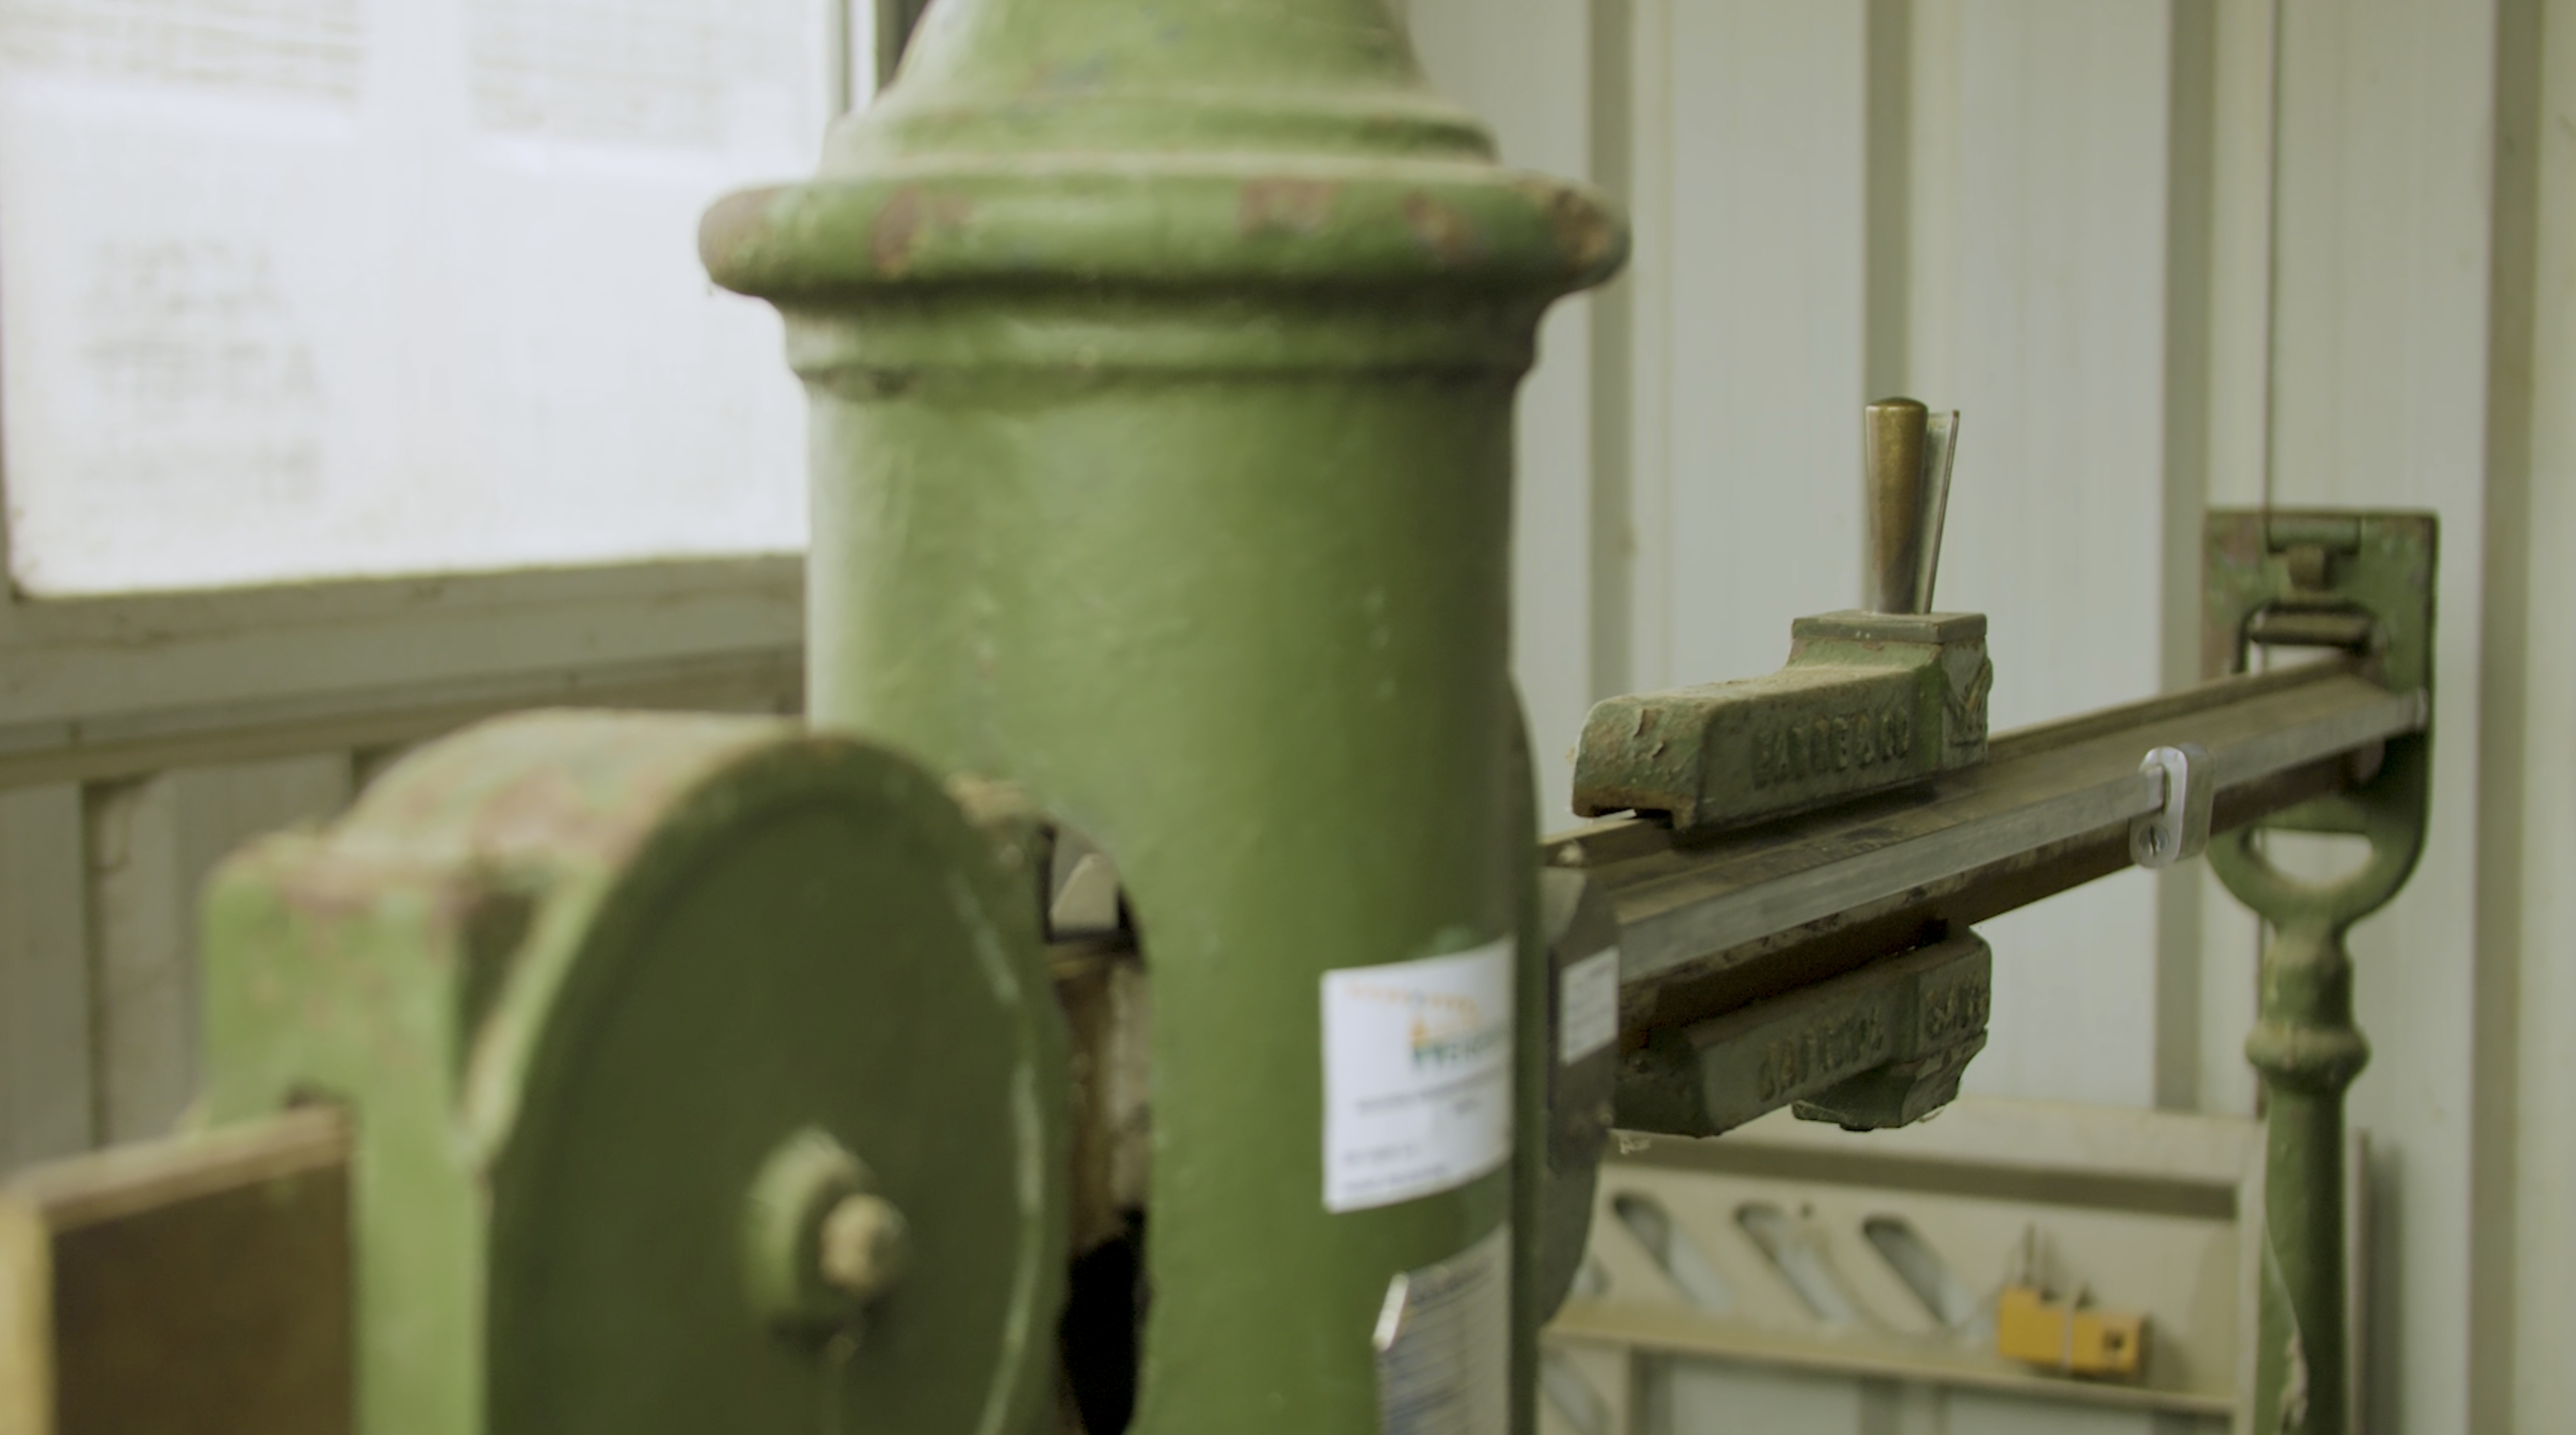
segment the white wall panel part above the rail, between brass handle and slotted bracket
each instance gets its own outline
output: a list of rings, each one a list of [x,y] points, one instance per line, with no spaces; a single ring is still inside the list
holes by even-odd
[[[1940,598],[1996,623],[1999,727],[2159,680],[2164,52],[2164,0],[1981,0],[1958,28],[1958,268],[1927,276],[1953,289],[1950,381],[1927,397],[1965,412]]]

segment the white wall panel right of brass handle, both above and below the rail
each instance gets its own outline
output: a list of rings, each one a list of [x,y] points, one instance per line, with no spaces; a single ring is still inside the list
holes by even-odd
[[[1955,75],[1922,88],[1955,155],[1917,149],[1911,240],[1947,268],[1914,265],[1909,348],[1919,397],[1963,412],[1940,605],[1989,616],[1996,727],[2164,680],[2169,28],[2164,0],[1971,0],[1917,46],[1919,72]],[[1986,938],[1973,1090],[2154,1100],[2151,879]]]

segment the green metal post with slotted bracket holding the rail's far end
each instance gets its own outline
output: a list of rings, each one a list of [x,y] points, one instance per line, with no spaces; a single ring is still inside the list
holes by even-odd
[[[2213,510],[2205,667],[2246,667],[2251,629],[2365,621],[2354,654],[2391,690],[2432,696],[2434,559],[2421,513]],[[2246,1059],[2264,1085],[2264,1234],[2254,1430],[2352,1427],[2344,1288],[2344,1090],[2370,1061],[2352,1020],[2344,933],[2378,912],[2424,850],[2432,729],[2388,742],[2367,781],[2210,840],[2210,868],[2272,927]],[[2257,832],[2347,832],[2362,866],[2316,884],[2264,858]]]

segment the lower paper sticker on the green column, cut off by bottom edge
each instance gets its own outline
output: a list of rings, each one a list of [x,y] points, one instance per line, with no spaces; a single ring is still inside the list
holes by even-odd
[[[1386,1283],[1378,1430],[1494,1435],[1512,1420],[1512,1226]]]

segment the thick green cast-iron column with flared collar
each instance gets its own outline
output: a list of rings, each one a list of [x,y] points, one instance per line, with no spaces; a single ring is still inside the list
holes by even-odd
[[[1128,884],[1139,1432],[1376,1430],[1391,1280],[1507,1224],[1510,1162],[1327,1206],[1324,987],[1517,951],[1512,397],[1623,245],[1378,0],[943,0],[819,178],[706,216],[814,399],[814,719]]]

